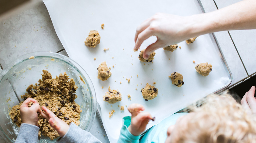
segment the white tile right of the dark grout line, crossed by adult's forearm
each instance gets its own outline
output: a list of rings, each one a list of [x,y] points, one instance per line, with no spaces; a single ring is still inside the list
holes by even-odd
[[[239,1],[242,0],[215,0],[218,8],[224,8]],[[256,66],[252,61],[256,61],[256,30],[234,30],[229,32],[239,52],[239,55],[242,58],[248,75],[255,73]]]

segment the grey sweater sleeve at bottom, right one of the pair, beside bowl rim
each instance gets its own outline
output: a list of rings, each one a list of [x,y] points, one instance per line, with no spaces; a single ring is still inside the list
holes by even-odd
[[[101,143],[96,137],[90,132],[84,131],[75,123],[70,124],[70,128],[66,135],[64,135],[57,143]]]

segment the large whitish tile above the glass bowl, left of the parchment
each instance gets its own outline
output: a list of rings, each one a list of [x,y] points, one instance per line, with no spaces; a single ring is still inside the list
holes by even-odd
[[[0,63],[37,51],[63,49],[43,2],[0,22]]]

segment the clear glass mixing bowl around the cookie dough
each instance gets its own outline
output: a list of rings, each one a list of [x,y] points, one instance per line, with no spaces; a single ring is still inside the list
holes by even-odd
[[[30,56],[34,58],[29,59]],[[75,102],[82,109],[79,127],[90,130],[96,115],[96,93],[88,74],[69,57],[50,52],[35,52],[18,57],[0,72],[0,136],[5,142],[14,142],[19,132],[19,127],[9,115],[12,106],[23,101],[20,96],[25,94],[29,85],[34,85],[42,78],[42,70],[49,71],[53,78],[66,72],[74,79],[78,86]],[[39,142],[56,140],[42,135]]]

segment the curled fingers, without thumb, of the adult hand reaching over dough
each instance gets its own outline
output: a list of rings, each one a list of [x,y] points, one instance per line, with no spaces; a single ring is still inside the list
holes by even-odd
[[[148,39],[150,36],[153,36],[153,31],[151,30],[150,27],[147,27],[145,30],[140,32],[135,42],[134,50],[137,51],[140,45],[143,43],[143,41]]]

